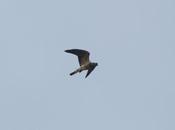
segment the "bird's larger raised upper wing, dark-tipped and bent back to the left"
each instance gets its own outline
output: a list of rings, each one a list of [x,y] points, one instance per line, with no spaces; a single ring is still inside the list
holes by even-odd
[[[80,66],[86,63],[89,63],[89,52],[86,50],[80,50],[80,49],[70,49],[70,50],[65,50],[67,53],[72,53],[76,56],[78,56],[78,61]]]

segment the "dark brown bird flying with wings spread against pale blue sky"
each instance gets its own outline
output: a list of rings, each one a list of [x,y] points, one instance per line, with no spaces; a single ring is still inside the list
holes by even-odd
[[[87,78],[88,75],[95,69],[95,67],[98,66],[98,63],[90,61],[90,59],[89,59],[90,53],[86,50],[69,49],[69,50],[65,50],[65,52],[78,56],[78,61],[79,61],[80,67],[78,69],[76,69],[75,71],[73,71],[72,73],[70,73],[71,76],[78,73],[78,72],[80,73],[84,70],[88,70],[87,74],[85,76],[85,78]]]

